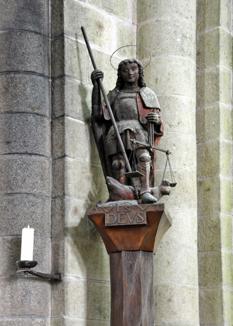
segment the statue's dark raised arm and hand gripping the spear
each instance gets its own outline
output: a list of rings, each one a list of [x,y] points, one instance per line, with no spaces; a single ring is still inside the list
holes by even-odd
[[[91,108],[92,108],[92,117],[94,120],[100,120],[102,118],[102,103],[101,103],[101,96],[100,96],[100,88],[97,83],[97,79],[99,78],[103,78],[103,73],[101,70],[96,69],[91,73],[91,81],[93,84]]]

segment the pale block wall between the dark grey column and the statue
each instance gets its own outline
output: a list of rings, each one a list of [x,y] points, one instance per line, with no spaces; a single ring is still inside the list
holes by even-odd
[[[131,1],[52,2],[52,266],[64,274],[53,286],[53,326],[109,325],[109,256],[86,216],[86,208],[106,201],[108,191],[90,127],[93,67],[81,26],[109,92],[116,83],[112,52],[136,43],[134,13]]]

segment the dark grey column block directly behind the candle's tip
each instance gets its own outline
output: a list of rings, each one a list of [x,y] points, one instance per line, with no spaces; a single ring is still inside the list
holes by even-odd
[[[4,196],[0,201],[0,235],[20,235],[24,224],[38,236],[50,237],[50,199],[33,195]]]

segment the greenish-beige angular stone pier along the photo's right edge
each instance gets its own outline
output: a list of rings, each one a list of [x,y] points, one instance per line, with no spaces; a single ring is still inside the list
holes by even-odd
[[[231,1],[197,2],[197,175],[200,324],[231,325]]]

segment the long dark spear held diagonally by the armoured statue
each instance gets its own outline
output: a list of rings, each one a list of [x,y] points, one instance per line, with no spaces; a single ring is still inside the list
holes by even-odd
[[[92,62],[93,68],[95,70],[95,69],[97,69],[97,66],[96,66],[96,63],[95,63],[95,60],[94,60],[92,51],[91,51],[91,47],[90,47],[90,43],[89,43],[88,38],[87,38],[86,31],[85,31],[85,29],[84,29],[83,26],[81,27],[81,30],[83,32],[83,37],[84,37],[85,43],[87,45],[87,49],[88,49],[88,52],[89,52],[89,56],[91,58],[91,62]],[[106,92],[105,92],[105,88],[103,87],[102,79],[101,78],[98,78],[97,82],[98,82],[99,87],[100,87],[100,90],[102,92],[103,99],[105,100],[106,106],[108,108],[108,112],[109,112],[109,115],[110,115],[110,118],[111,118],[111,121],[112,121],[112,124],[113,124],[113,128],[115,130],[115,134],[116,134],[116,137],[117,137],[119,146],[120,146],[120,150],[121,150],[121,153],[122,153],[122,155],[124,157],[124,160],[125,160],[127,171],[128,172],[132,172],[131,166],[130,166],[130,162],[128,161],[128,157],[126,155],[126,152],[125,152],[125,149],[124,149],[124,145],[122,143],[122,140],[121,140],[121,137],[120,137],[120,133],[119,133],[119,130],[117,128],[116,121],[114,119],[114,116],[113,116],[113,113],[112,113],[112,109],[111,109],[111,106],[109,104],[109,100],[108,100],[108,97],[106,95]],[[133,187],[135,189],[135,194],[138,197],[138,188],[137,188],[137,184],[136,184],[134,178],[132,178],[132,182],[134,184]]]

